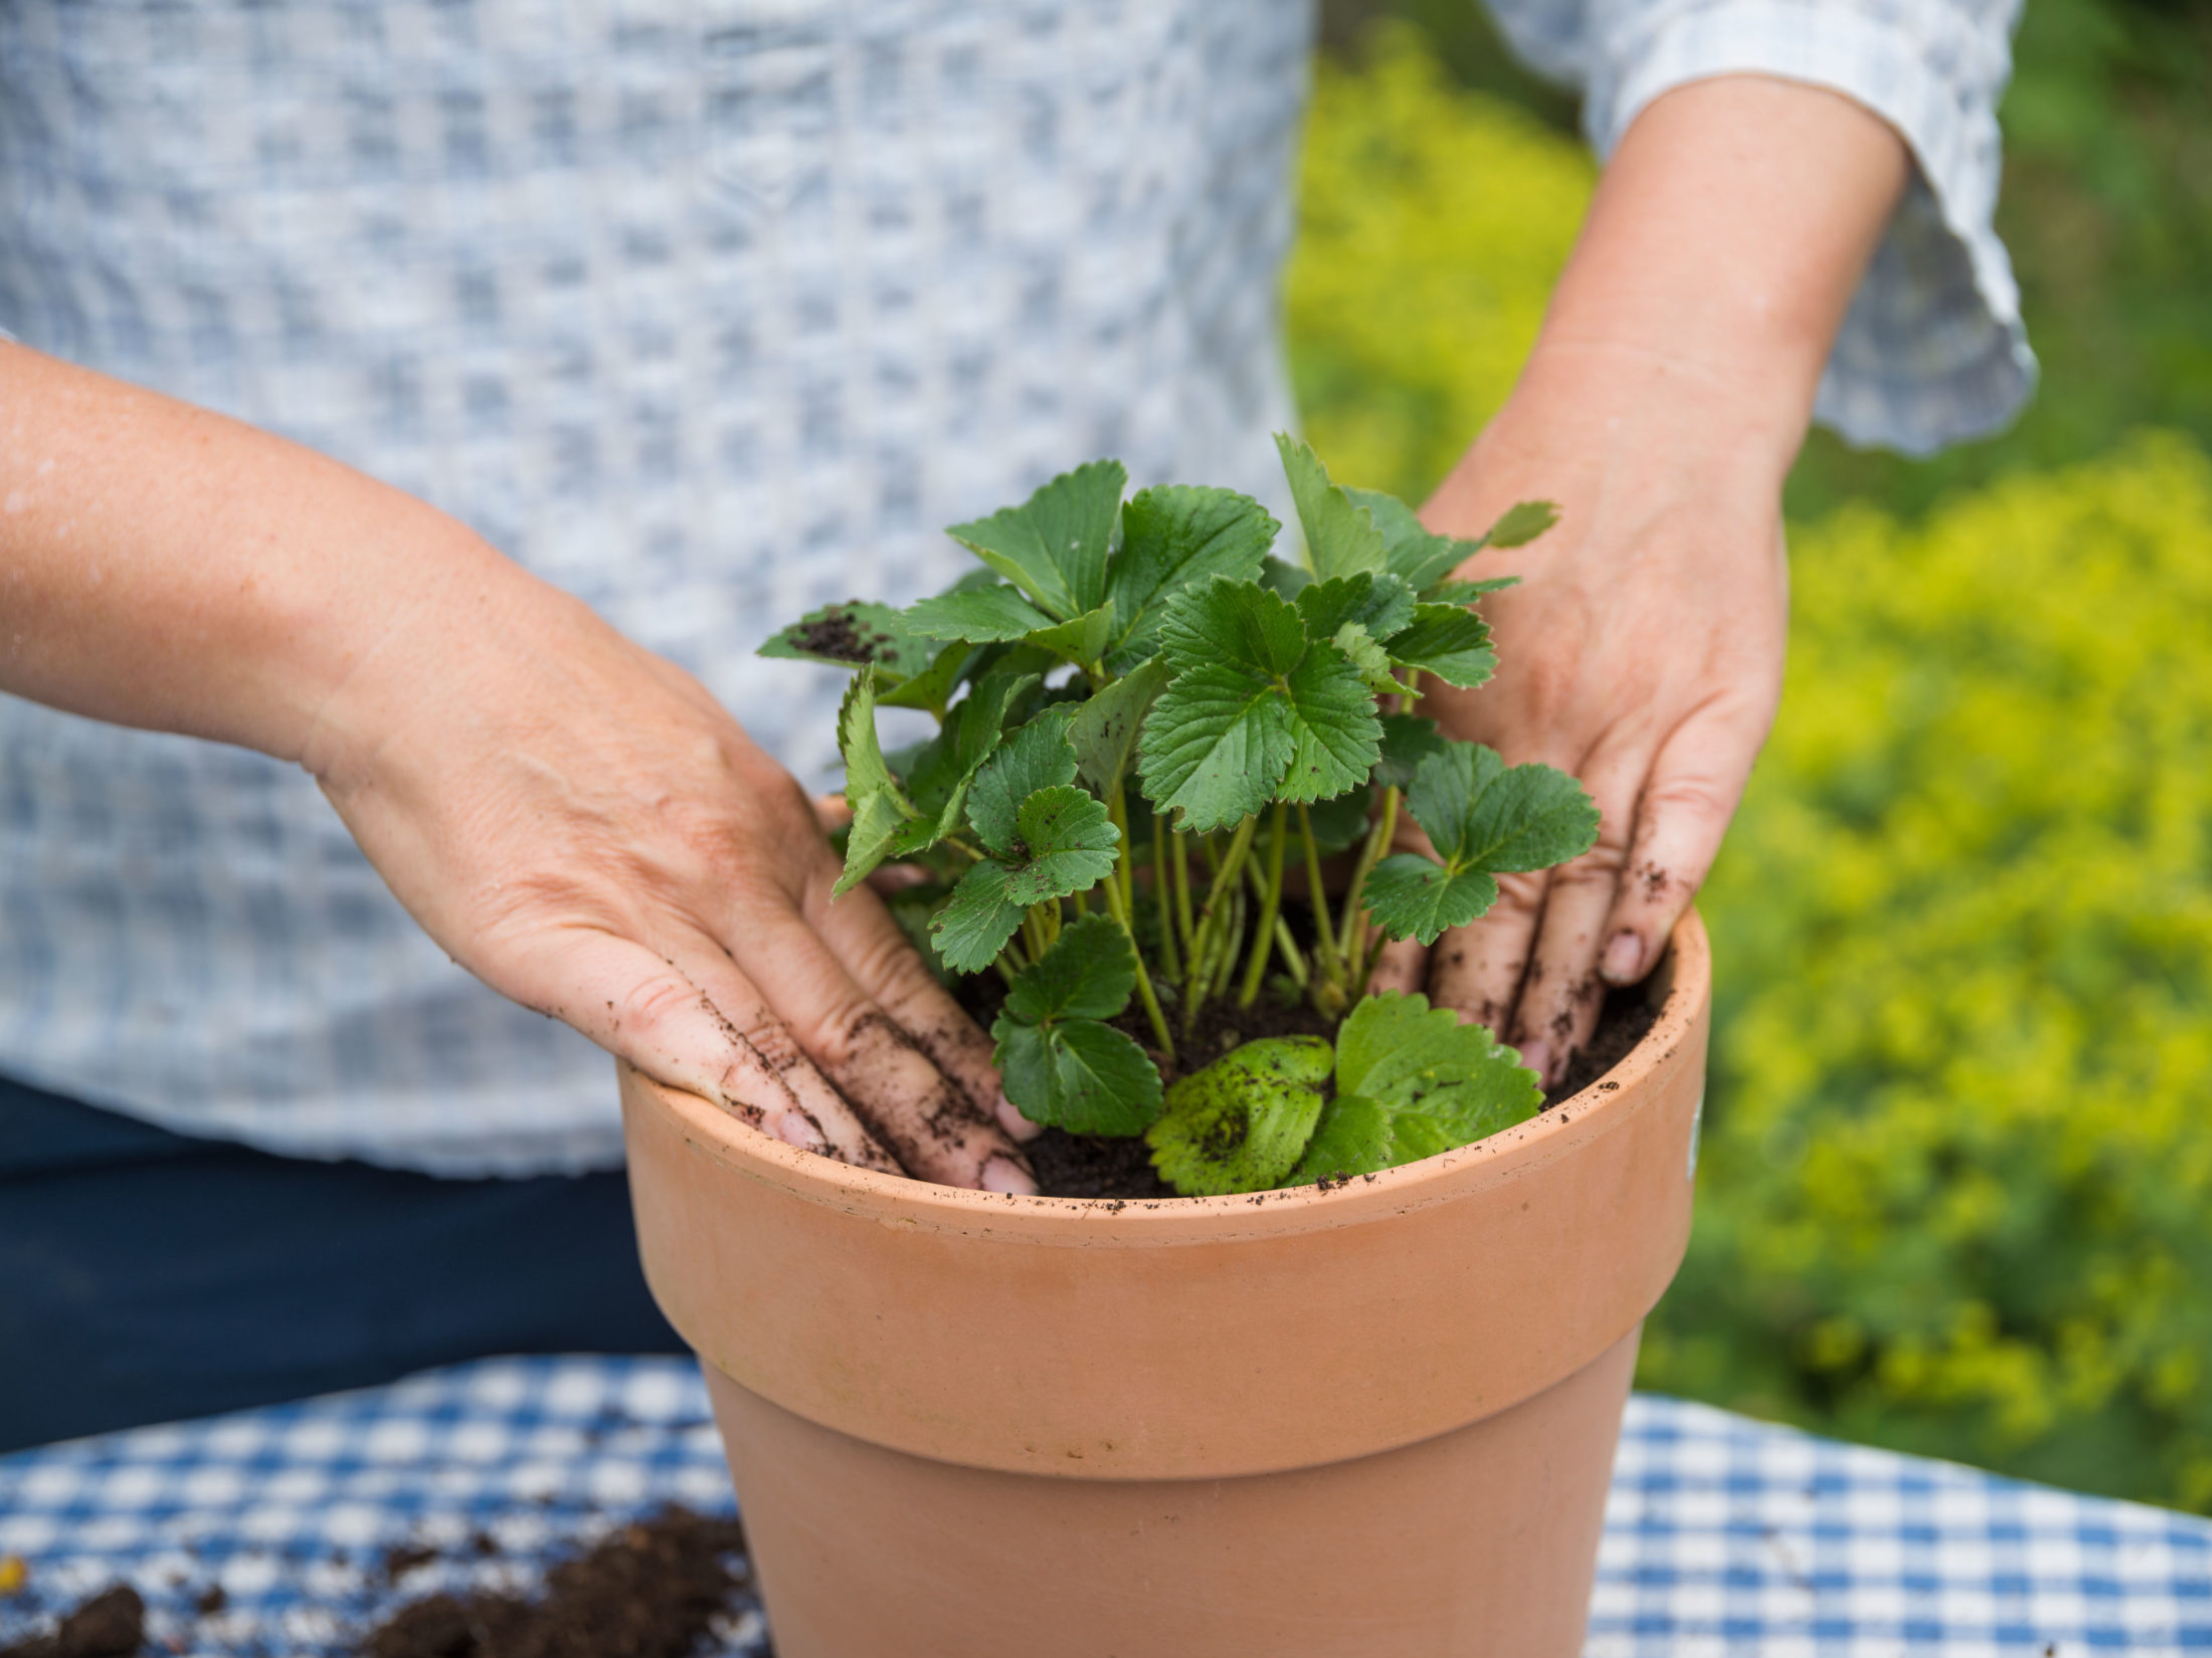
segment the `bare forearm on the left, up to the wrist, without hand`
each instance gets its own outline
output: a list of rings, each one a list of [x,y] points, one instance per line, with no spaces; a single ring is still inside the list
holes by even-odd
[[[4,343],[0,508],[0,690],[290,760],[414,619],[535,586],[398,489]]]

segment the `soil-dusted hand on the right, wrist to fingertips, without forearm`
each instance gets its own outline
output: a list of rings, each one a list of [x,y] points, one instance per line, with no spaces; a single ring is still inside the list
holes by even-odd
[[[1383,986],[1420,988],[1498,1030],[1546,1085],[1588,1041],[1606,986],[1659,959],[1736,809],[1781,696],[1787,632],[1778,480],[1732,431],[1719,387],[1683,365],[1571,349],[1537,365],[1425,508],[1480,535],[1517,500],[1564,513],[1535,544],[1478,562],[1522,586],[1484,599],[1500,670],[1431,685],[1422,712],[1506,760],[1582,778],[1597,847],[1502,875],[1473,926],[1385,953]]]

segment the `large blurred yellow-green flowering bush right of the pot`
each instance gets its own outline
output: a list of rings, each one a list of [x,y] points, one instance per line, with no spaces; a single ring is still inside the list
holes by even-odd
[[[2212,464],[1792,548],[1646,1386],[2212,1508]]]

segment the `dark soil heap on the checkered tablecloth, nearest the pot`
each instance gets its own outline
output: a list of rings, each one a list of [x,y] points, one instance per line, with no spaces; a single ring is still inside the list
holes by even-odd
[[[478,1550],[480,1552],[480,1550]],[[476,1589],[414,1601],[361,1658],[688,1658],[752,1581],[734,1519],[670,1508],[562,1561],[535,1598]]]

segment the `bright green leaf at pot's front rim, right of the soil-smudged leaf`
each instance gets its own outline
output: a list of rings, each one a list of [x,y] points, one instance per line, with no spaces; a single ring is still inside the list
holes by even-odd
[[[1520,1054],[1425,995],[1358,1001],[1336,1030],[1336,1101],[1296,1180],[1416,1163],[1526,1123],[1544,1090]]]

